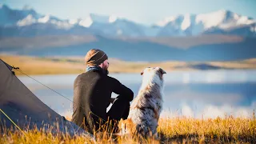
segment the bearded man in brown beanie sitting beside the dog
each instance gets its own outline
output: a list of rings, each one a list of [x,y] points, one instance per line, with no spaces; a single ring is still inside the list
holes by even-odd
[[[126,119],[134,93],[115,78],[108,76],[108,57],[98,49],[89,50],[85,57],[86,72],[74,80],[74,103],[72,122],[93,133],[110,126],[117,132],[117,122]],[[119,94],[111,98],[111,94]],[[106,108],[113,103],[110,110]],[[115,123],[109,123],[114,121]]]

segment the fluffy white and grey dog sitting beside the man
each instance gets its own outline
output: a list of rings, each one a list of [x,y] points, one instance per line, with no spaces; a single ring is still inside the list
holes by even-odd
[[[142,71],[142,86],[130,106],[127,118],[135,126],[136,133],[143,136],[156,134],[159,115],[162,111],[163,74],[159,67],[146,68]],[[130,133],[130,126],[122,125],[122,134]]]

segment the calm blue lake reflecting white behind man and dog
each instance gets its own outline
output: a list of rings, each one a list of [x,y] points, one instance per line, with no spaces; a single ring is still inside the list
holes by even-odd
[[[78,74],[31,76],[66,98],[73,100],[73,83]],[[138,94],[140,74],[110,74]],[[72,102],[26,76],[18,78],[46,105],[65,116],[72,114]],[[252,117],[256,108],[256,70],[172,71],[164,75],[164,103],[161,117],[192,118]],[[113,94],[115,97],[116,94]]]

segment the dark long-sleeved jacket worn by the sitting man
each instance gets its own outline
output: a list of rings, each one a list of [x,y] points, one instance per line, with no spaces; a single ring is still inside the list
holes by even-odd
[[[98,129],[99,118],[107,121],[106,108],[110,105],[111,93],[119,94],[127,102],[134,98],[132,90],[111,78],[102,70],[92,70],[78,75],[74,80],[74,103],[72,122],[86,126],[92,132]],[[85,125],[82,125],[84,122]]]

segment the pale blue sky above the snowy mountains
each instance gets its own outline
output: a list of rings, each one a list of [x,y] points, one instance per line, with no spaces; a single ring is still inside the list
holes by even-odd
[[[171,15],[231,10],[256,19],[256,0],[1,0],[10,8],[28,5],[40,14],[58,18],[85,18],[88,14],[115,14],[151,25]]]

